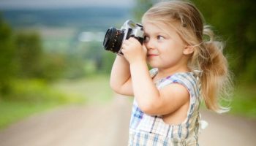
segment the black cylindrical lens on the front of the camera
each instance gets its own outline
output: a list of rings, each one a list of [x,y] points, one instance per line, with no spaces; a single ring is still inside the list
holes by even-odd
[[[124,31],[116,28],[109,28],[105,34],[103,46],[105,50],[110,50],[113,53],[118,53],[121,48],[121,44],[124,38]]]

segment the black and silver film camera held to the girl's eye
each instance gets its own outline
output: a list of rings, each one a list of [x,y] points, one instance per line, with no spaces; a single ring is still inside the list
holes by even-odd
[[[142,45],[144,39],[143,26],[139,23],[134,23],[132,20],[127,20],[123,26],[121,26],[121,29],[111,27],[105,34],[103,46],[105,50],[122,55],[121,45],[123,41],[129,39],[129,37],[138,39]]]

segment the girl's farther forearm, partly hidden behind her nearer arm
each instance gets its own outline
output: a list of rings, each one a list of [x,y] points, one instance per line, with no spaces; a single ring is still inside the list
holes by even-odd
[[[129,63],[122,55],[117,55],[110,75],[110,87],[116,93],[133,96]]]

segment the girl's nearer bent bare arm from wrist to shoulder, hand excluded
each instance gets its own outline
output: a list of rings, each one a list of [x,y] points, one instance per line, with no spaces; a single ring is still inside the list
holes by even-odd
[[[145,61],[131,64],[130,69],[135,99],[146,114],[166,115],[189,101],[189,92],[181,84],[170,84],[158,90],[151,80]]]

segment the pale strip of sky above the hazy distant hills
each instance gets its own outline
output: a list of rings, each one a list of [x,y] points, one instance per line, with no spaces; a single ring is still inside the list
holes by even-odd
[[[132,7],[135,0],[0,0],[0,9],[58,7]]]

